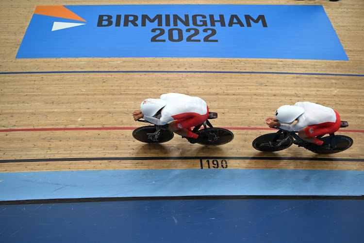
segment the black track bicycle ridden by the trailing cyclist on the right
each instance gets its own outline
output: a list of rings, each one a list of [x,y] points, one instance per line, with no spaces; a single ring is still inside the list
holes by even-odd
[[[349,124],[347,121],[341,121],[340,127],[347,127]],[[286,149],[292,145],[292,143],[298,145],[298,147],[304,147],[316,154],[334,154],[347,150],[353,144],[353,139],[343,135],[335,135],[334,133],[324,137],[324,135],[317,136],[317,139],[324,141],[322,145],[316,145],[311,142],[307,142],[298,137],[298,132],[285,131],[280,128],[276,133],[268,133],[254,139],[252,145],[256,150],[263,152],[276,152]]]

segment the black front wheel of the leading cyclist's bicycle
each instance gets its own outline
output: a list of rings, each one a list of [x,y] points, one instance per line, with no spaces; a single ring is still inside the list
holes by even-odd
[[[148,135],[148,133],[155,133],[157,129],[157,126],[138,127],[132,132],[132,136],[134,137],[134,139],[146,143],[162,143],[169,141],[174,137],[173,132],[165,128],[161,128],[159,134],[157,134],[156,136]]]

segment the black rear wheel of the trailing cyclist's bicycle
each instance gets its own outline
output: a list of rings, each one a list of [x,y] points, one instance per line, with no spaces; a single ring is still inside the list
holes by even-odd
[[[323,145],[312,145],[308,150],[316,154],[335,154],[347,150],[353,145],[353,139],[343,135],[335,135],[333,137],[321,138],[324,141]],[[329,144],[329,145],[327,145]]]

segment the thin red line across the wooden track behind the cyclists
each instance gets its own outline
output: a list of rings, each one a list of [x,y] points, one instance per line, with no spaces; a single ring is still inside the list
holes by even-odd
[[[0,132],[46,132],[46,131],[80,131],[80,130],[134,130],[137,127],[72,127],[72,128],[24,128],[24,129],[0,129]],[[271,130],[268,127],[224,127],[229,130]],[[364,133],[364,130],[340,129],[339,132]]]

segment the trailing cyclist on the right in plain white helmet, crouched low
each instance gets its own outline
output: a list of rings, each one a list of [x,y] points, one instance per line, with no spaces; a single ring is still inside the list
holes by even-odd
[[[297,122],[292,124],[294,121]],[[276,111],[276,118],[265,119],[269,127],[279,127],[287,131],[298,131],[298,136],[308,142],[322,145],[316,136],[334,133],[339,130],[339,114],[333,109],[311,102],[297,102],[295,105],[282,105]]]

